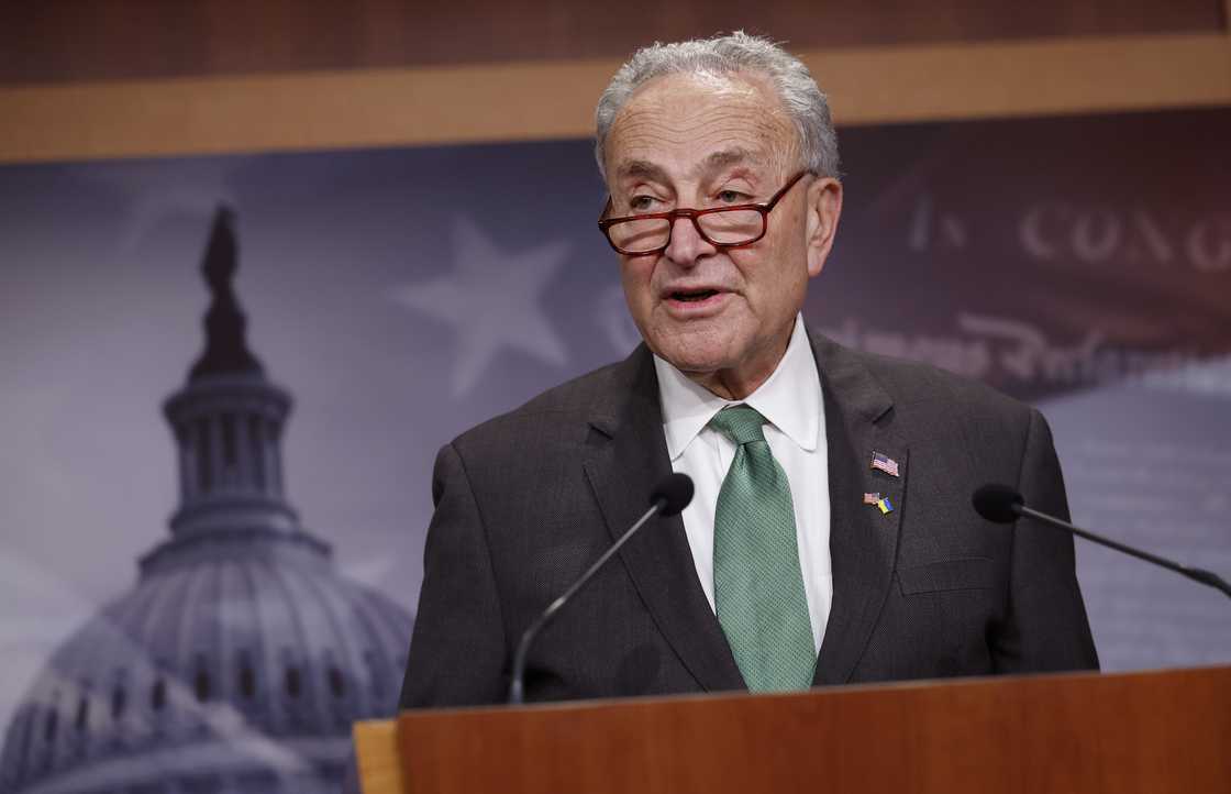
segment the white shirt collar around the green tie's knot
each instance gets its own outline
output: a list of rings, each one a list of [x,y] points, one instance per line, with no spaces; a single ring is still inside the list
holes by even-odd
[[[761,412],[803,449],[812,452],[820,439],[821,378],[816,358],[808,341],[803,315],[795,316],[795,327],[773,374],[745,400],[725,400],[688,379],[659,356],[654,357],[659,375],[659,399],[662,403],[662,428],[667,453],[675,460],[728,405],[744,403]]]

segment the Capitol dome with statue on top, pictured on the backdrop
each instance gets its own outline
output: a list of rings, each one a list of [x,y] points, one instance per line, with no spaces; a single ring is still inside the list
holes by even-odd
[[[245,341],[233,227],[219,209],[206,351],[164,405],[171,537],[34,681],[5,736],[2,794],[335,793],[351,724],[396,707],[412,618],[342,577],[286,499],[292,399]]]

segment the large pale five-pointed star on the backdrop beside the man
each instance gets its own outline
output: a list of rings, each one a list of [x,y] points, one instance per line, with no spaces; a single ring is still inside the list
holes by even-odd
[[[539,298],[569,255],[558,240],[510,255],[467,218],[453,222],[454,267],[448,276],[398,287],[393,299],[453,326],[458,352],[452,389],[462,396],[475,387],[502,347],[558,367],[567,362]]]

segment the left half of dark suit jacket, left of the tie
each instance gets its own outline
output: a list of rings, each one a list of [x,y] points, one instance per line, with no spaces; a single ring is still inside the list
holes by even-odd
[[[521,633],[646,510],[668,471],[644,346],[446,444],[403,705],[499,700]],[[534,644],[528,699],[741,684],[678,516],[659,524]]]

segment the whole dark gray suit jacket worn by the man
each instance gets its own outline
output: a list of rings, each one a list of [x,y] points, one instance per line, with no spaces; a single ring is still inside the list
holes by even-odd
[[[1067,517],[1043,416],[812,334],[828,437],[833,603],[815,684],[1097,668],[1072,539],[992,524],[987,481]],[[874,452],[900,476],[870,468]],[[401,707],[500,702],[521,633],[671,473],[645,346],[463,433],[436,460]],[[863,503],[888,496],[888,515]],[[527,699],[741,689],[678,516],[646,526],[542,635]]]

